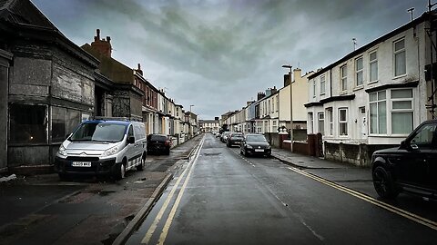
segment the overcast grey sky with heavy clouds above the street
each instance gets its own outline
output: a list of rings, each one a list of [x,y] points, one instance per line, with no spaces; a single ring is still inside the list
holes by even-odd
[[[113,57],[200,119],[283,86],[422,15],[428,0],[32,0],[77,45],[101,30]]]

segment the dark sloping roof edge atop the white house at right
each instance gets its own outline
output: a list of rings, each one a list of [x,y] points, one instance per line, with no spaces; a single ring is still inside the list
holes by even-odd
[[[409,23],[407,23],[407,24],[405,24],[405,25],[401,25],[401,27],[398,27],[397,29],[394,29],[394,30],[391,31],[390,33],[383,34],[383,35],[380,36],[379,38],[377,38],[377,39],[371,41],[371,43],[369,43],[369,44],[365,44],[365,45],[362,46],[361,48],[359,48],[359,49],[357,49],[357,50],[355,50],[355,51],[353,51],[353,52],[351,52],[351,53],[349,53],[349,54],[346,54],[346,56],[342,57],[340,60],[338,60],[338,61],[336,61],[336,62],[334,62],[334,63],[328,65],[328,66],[325,67],[325,68],[320,69],[320,71],[315,72],[315,73],[312,73],[311,75],[308,76],[308,79],[315,78],[315,77],[317,77],[318,75],[320,75],[321,73],[325,73],[325,72],[329,71],[330,69],[332,69],[333,67],[337,66],[338,64],[341,64],[341,63],[343,63],[344,61],[347,61],[347,60],[351,59],[352,57],[354,57],[354,56],[356,56],[356,55],[358,55],[358,54],[361,54],[361,53],[363,53],[364,51],[370,49],[370,48],[371,48],[372,46],[374,46],[375,44],[379,44],[379,43],[381,43],[381,41],[383,41],[383,40],[389,39],[390,37],[392,37],[392,36],[394,36],[394,35],[396,35],[396,34],[400,34],[401,32],[403,32],[403,31],[405,31],[405,30],[408,30],[408,29],[412,28],[412,27],[415,26],[415,25],[419,25],[419,24],[421,24],[422,22],[425,21],[425,17],[427,17],[427,15],[428,15],[428,13],[425,12],[425,13],[423,13],[420,17],[418,17],[418,18],[412,20],[411,22],[409,22]]]

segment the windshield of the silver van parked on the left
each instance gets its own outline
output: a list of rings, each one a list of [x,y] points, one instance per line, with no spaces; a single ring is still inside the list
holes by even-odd
[[[72,142],[120,142],[126,125],[112,122],[84,123],[71,135]]]

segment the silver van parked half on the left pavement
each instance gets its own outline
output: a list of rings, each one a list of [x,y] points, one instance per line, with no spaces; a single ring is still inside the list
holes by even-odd
[[[133,168],[142,171],[147,156],[143,122],[82,122],[62,142],[55,164],[61,180],[72,175],[108,175],[123,179]]]

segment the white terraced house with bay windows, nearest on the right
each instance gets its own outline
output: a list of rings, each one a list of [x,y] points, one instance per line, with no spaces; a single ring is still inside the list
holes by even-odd
[[[428,75],[435,61],[428,33],[433,15],[424,14],[310,75],[308,131],[323,134],[327,158],[368,165],[371,152],[398,145],[432,118],[427,107],[435,107],[435,82]]]

